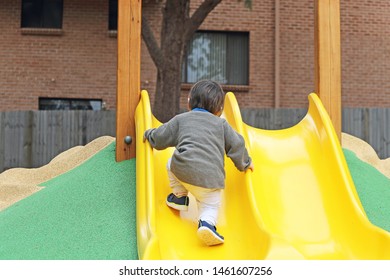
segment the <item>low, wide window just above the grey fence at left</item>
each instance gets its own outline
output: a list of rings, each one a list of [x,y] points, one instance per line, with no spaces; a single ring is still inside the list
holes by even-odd
[[[101,99],[39,98],[39,110],[101,110]]]

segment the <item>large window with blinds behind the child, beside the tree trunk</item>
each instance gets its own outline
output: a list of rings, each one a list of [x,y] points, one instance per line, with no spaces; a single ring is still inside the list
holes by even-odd
[[[249,33],[198,31],[183,64],[183,82],[212,79],[227,85],[248,85]]]

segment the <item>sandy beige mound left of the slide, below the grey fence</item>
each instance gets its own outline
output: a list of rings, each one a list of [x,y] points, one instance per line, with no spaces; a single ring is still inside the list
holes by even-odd
[[[42,189],[39,184],[75,168],[113,141],[114,137],[102,136],[85,146],[76,146],[59,154],[42,167],[4,171],[0,174],[0,211],[39,191]]]

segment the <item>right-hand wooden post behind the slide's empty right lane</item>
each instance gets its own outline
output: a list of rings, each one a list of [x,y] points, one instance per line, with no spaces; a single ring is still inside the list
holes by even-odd
[[[315,2],[316,92],[341,141],[340,1]]]

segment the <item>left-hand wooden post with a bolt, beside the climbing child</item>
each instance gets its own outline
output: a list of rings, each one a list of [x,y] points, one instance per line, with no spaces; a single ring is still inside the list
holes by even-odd
[[[134,113],[139,102],[141,83],[141,5],[141,0],[118,0],[116,95],[116,161],[118,162],[135,157]]]

